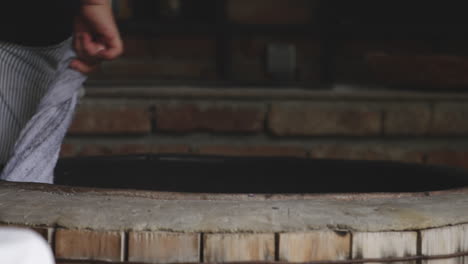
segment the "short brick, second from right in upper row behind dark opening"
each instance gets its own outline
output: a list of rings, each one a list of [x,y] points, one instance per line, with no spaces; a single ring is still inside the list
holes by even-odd
[[[425,135],[430,122],[428,104],[402,104],[385,110],[384,131],[386,135]]]

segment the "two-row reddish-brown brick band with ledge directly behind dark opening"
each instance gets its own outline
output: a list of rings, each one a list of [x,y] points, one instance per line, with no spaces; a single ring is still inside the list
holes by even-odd
[[[90,88],[62,156],[294,156],[468,168],[466,96],[134,89],[118,96]]]

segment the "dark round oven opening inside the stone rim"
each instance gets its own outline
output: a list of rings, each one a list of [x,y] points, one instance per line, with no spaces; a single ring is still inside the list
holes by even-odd
[[[420,193],[467,187],[468,171],[390,161],[130,155],[62,159],[55,183],[175,193]]]

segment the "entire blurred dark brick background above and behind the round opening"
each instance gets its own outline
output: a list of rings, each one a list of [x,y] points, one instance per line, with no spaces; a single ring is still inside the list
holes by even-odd
[[[113,8],[125,54],[86,83],[62,157],[468,168],[461,1],[113,0]]]

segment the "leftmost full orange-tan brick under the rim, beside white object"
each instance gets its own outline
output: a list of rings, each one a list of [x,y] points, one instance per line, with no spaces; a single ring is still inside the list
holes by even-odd
[[[121,261],[121,233],[58,229],[55,255],[59,259]]]

